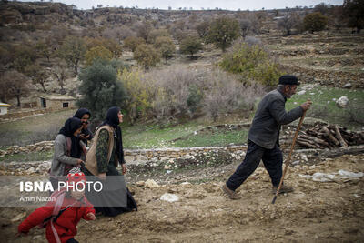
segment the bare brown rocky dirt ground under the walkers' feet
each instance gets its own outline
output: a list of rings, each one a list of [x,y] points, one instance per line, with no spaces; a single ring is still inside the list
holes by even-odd
[[[340,177],[339,170],[364,172],[364,155],[316,158],[290,167],[286,183],[295,192],[278,197],[272,205],[268,173],[263,167],[239,188],[242,199],[231,201],[220,187],[236,163],[221,167],[199,167],[155,173],[133,172],[129,188],[139,205],[137,212],[116,218],[98,217],[81,221],[80,242],[337,242],[364,240],[364,177]],[[327,181],[319,174],[334,174]],[[355,174],[360,175],[360,174]],[[154,179],[147,187],[141,180]],[[327,178],[327,177],[326,177]],[[161,200],[165,193],[179,197]],[[1,242],[45,242],[44,229],[14,239],[15,228],[33,208],[0,208]]]

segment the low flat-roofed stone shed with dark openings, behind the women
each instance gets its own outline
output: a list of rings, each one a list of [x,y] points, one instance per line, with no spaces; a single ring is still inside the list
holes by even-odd
[[[76,98],[73,96],[37,96],[37,106],[41,108],[75,108]]]

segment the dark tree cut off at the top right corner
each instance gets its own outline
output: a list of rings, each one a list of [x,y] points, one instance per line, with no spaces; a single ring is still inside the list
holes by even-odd
[[[357,28],[357,33],[364,27],[364,1],[344,0],[344,13],[349,17],[349,27]]]

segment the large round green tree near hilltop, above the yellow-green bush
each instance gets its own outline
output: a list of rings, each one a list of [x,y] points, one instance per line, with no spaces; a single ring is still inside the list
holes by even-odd
[[[212,21],[207,35],[207,42],[214,43],[217,48],[226,51],[233,41],[238,38],[240,28],[238,21],[229,17],[219,17]]]

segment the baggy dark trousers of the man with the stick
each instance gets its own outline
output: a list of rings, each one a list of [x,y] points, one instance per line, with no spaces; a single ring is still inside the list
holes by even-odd
[[[248,140],[247,155],[235,173],[227,180],[227,187],[236,190],[257,169],[260,160],[268,170],[273,186],[278,187],[282,177],[283,155],[278,145],[272,149],[260,147]]]

